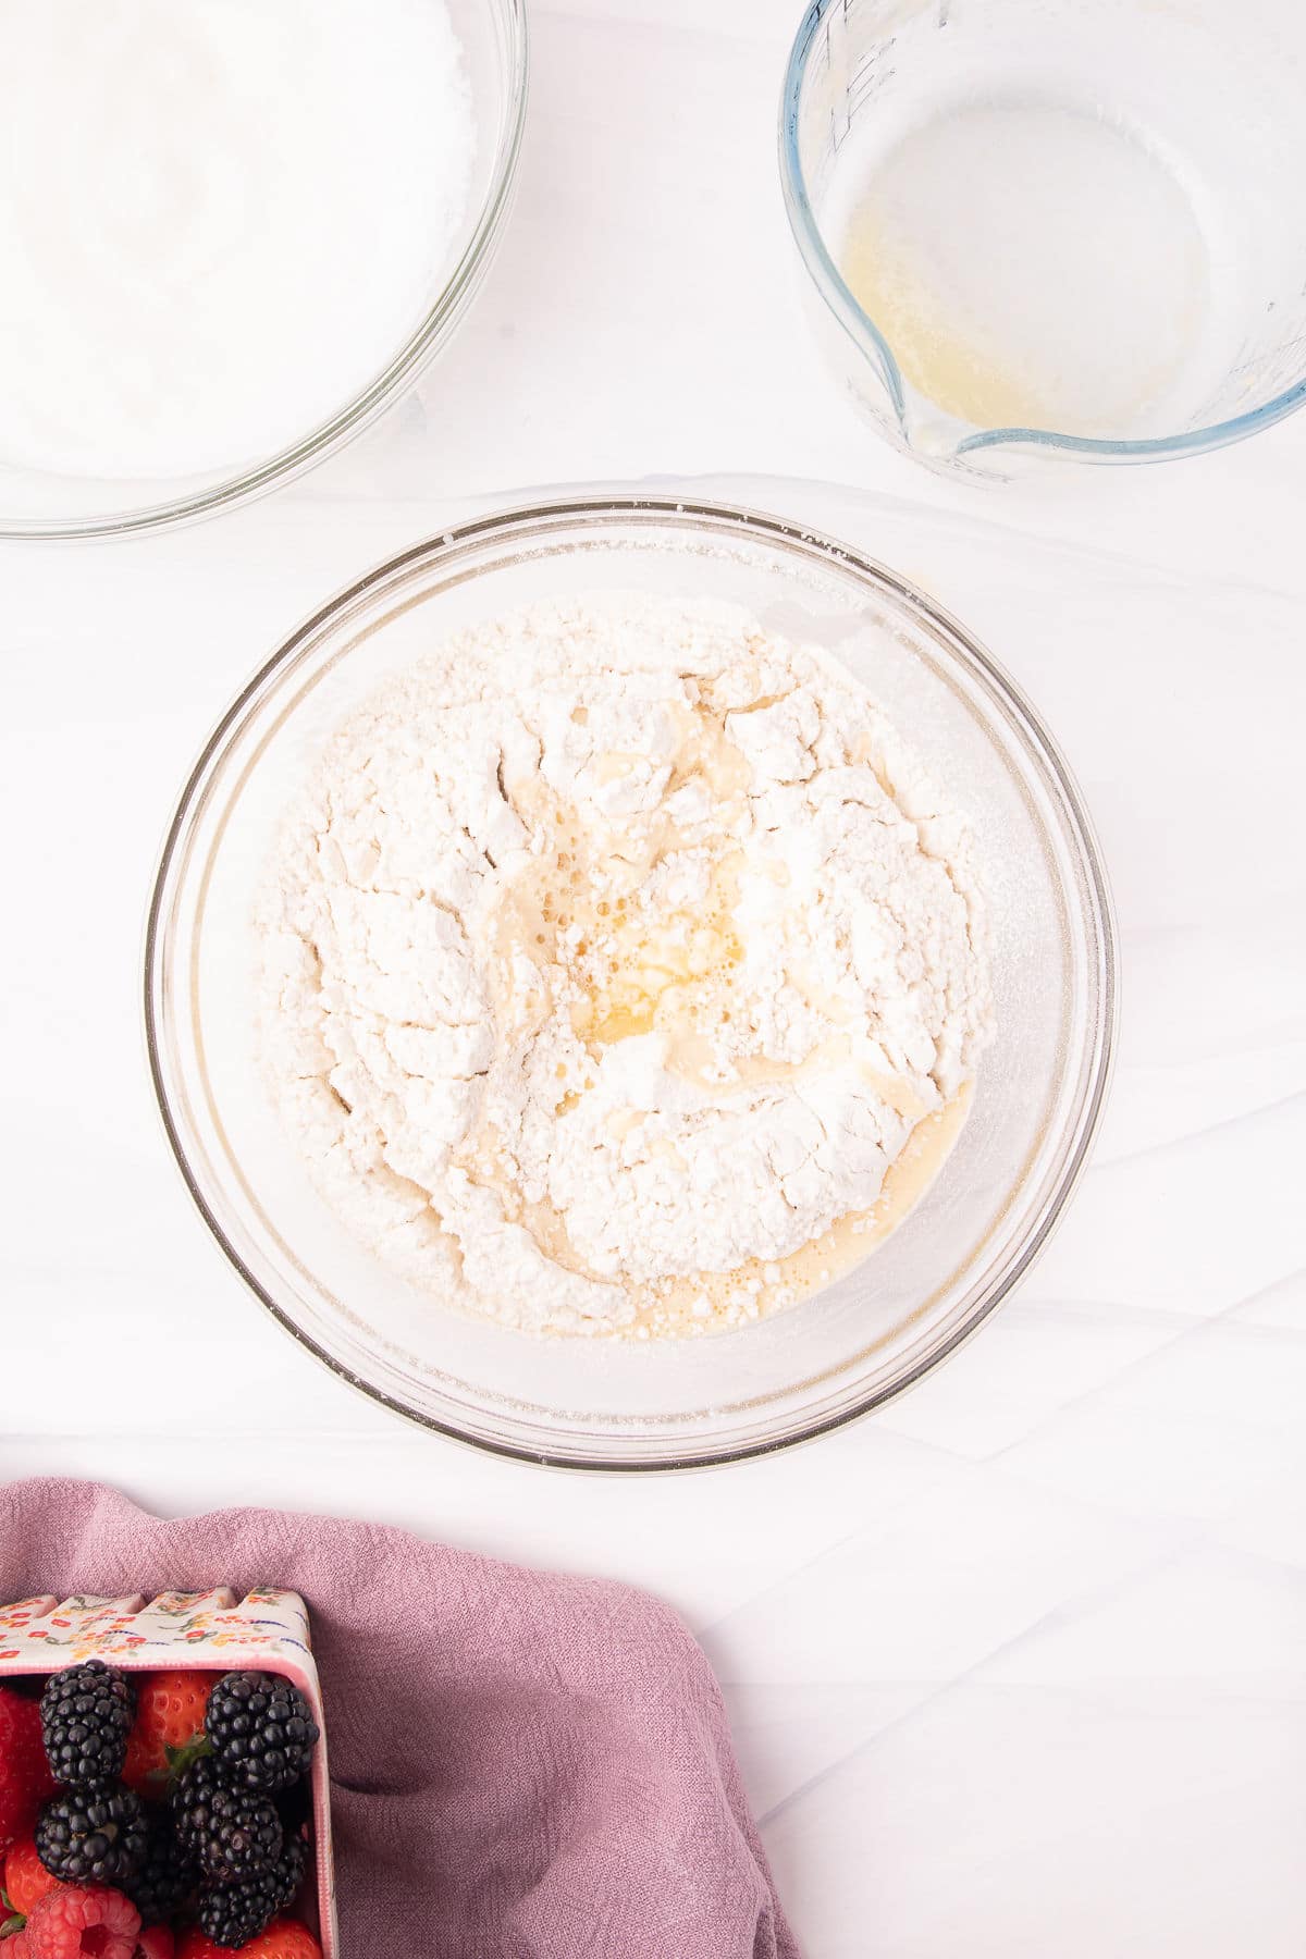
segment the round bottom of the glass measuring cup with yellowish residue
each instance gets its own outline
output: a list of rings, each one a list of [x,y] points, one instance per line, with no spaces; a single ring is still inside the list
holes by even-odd
[[[944,413],[1163,433],[1220,370],[1192,198],[1136,135],[1061,106],[969,104],[875,161],[848,149],[826,235],[903,376]]]

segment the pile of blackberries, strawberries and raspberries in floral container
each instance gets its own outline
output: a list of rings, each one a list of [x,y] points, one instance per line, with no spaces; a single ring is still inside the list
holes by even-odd
[[[100,1659],[25,1685],[0,1687],[0,1959],[321,1959],[286,1916],[319,1740],[298,1687]]]

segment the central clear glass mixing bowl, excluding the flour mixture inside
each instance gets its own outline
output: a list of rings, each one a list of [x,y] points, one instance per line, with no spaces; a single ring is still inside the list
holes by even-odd
[[[382,676],[444,635],[593,590],[724,599],[815,643],[885,705],[975,831],[997,1040],[938,1181],[858,1269],[738,1332],[533,1338],[460,1314],[345,1234],[278,1128],[255,1054],[257,882],[288,799]],[[1038,715],[895,572],[773,517],[654,498],[468,523],[360,578],[217,723],[172,817],[145,1017],[166,1132],[204,1218],[268,1311],[376,1401],[533,1461],[662,1469],[834,1428],[920,1379],[1028,1271],[1106,1095],[1116,950],[1079,791]]]

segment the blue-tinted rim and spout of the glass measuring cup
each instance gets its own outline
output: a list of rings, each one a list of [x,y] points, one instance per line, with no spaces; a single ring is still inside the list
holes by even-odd
[[[916,445],[912,443],[907,425],[907,388],[903,384],[903,370],[893,349],[889,347],[889,341],[871,315],[854,298],[852,288],[846,284],[834,257],[830,255],[824,233],[816,221],[799,151],[799,102],[803,82],[807,78],[809,57],[826,18],[834,12],[842,14],[844,8],[846,0],[811,0],[803,20],[799,22],[799,29],[789,49],[789,59],[785,63],[785,76],[779,94],[779,180],[785,200],[785,215],[789,219],[793,241],[799,247],[799,259],[803,261],[813,286],[832,313],[834,321],[842,327],[858,353],[863,355],[863,358],[869,360],[869,364],[879,372],[903,441],[909,451],[914,453]],[[1306,374],[1288,388],[1283,388],[1269,402],[1263,402],[1261,407],[1251,407],[1241,415],[1230,415],[1226,421],[1212,421],[1202,429],[1183,429],[1177,435],[1118,439],[1098,435],[1061,435],[1055,429],[1034,427],[975,429],[973,435],[961,437],[961,441],[944,456],[930,456],[930,460],[961,460],[965,456],[979,454],[981,451],[1014,449],[1024,445],[1028,449],[1055,451],[1057,454],[1067,454],[1083,462],[1169,462],[1179,456],[1196,456],[1208,449],[1224,449],[1230,443],[1243,441],[1243,437],[1255,435],[1259,429],[1273,427],[1273,423],[1283,421],[1302,406],[1306,406]],[[965,427],[965,423],[959,423],[959,427]]]

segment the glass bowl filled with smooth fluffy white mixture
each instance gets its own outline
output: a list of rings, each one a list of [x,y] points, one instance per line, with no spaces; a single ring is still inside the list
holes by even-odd
[[[443,349],[501,235],[523,0],[12,24],[0,537],[196,519],[323,460]]]

